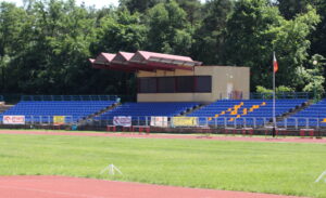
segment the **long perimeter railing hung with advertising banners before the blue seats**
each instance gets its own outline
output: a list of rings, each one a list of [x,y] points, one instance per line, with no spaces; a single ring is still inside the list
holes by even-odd
[[[121,116],[106,120],[79,119],[74,116],[0,116],[1,128],[45,128],[100,131],[156,131],[176,133],[221,133],[242,135],[269,135],[274,128],[271,117],[160,117]],[[276,135],[322,136],[326,135],[325,118],[277,118]]]

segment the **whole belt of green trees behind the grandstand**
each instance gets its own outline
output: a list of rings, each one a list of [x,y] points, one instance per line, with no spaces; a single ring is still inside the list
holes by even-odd
[[[249,66],[252,91],[271,89],[275,51],[280,89],[325,90],[325,0],[121,0],[100,10],[24,2],[0,3],[2,93],[133,94],[133,74],[92,69],[88,58],[137,50]]]

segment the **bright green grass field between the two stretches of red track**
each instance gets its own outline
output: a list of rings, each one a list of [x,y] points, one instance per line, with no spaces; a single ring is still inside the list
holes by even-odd
[[[114,163],[123,175],[100,174]],[[1,175],[71,175],[326,197],[325,144],[0,134]]]

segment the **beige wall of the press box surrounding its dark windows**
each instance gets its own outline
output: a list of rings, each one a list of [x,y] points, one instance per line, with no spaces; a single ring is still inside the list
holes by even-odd
[[[193,71],[176,70],[156,72],[139,71],[137,77],[172,77],[172,76],[212,76],[211,93],[139,93],[138,102],[204,102],[211,103],[227,97],[227,90],[241,91],[243,96],[250,93],[249,67],[233,66],[197,66]],[[233,90],[230,90],[233,88]],[[246,98],[246,97],[244,97]]]

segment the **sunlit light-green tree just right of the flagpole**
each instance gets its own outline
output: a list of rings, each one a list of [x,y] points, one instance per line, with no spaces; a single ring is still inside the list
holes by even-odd
[[[311,42],[309,36],[315,29],[319,17],[315,9],[308,8],[304,14],[298,14],[293,19],[280,21],[279,27],[273,27],[268,30],[268,35],[275,36],[272,44],[279,54],[278,82],[285,85],[291,85],[297,90],[302,90],[300,84],[302,75],[301,67],[309,67],[309,50]]]

